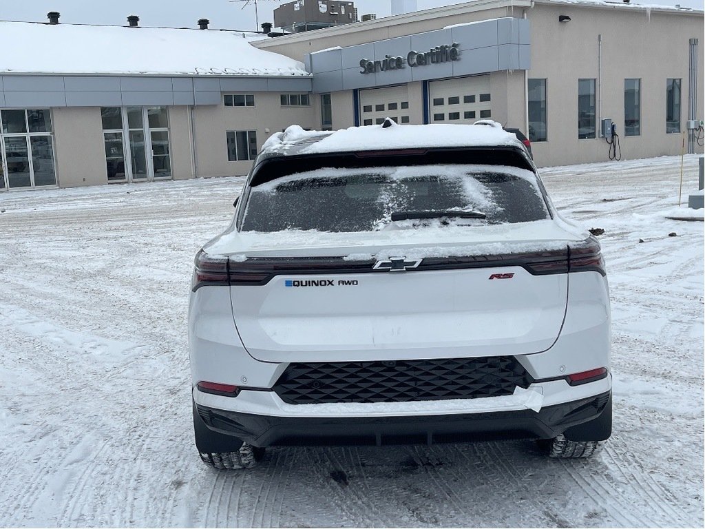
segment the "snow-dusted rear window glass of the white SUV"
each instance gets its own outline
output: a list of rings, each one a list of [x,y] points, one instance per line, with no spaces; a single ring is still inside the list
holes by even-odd
[[[481,212],[393,222],[395,212]],[[250,190],[241,231],[377,231],[403,223],[478,226],[548,219],[531,171],[504,166],[434,165],[317,169]]]

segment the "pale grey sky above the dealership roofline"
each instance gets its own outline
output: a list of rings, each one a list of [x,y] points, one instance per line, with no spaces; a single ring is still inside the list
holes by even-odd
[[[635,4],[675,5],[703,8],[703,0],[632,0]],[[274,22],[272,11],[284,0],[257,0],[259,23]],[[419,9],[450,4],[448,0],[417,0]],[[0,0],[0,20],[45,22],[49,11],[59,11],[62,23],[127,25],[128,15],[140,17],[140,25],[197,28],[199,18],[208,18],[213,29],[253,31],[255,5],[229,0]],[[244,7],[243,7],[244,6]],[[360,16],[391,14],[391,0],[355,0]]]

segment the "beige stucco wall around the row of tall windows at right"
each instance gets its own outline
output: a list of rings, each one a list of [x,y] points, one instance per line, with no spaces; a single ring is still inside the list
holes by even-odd
[[[558,22],[568,15],[568,23]],[[617,124],[623,159],[680,154],[682,134],[666,134],[666,78],[681,78],[681,130],[688,109],[690,38],[699,38],[697,118],[703,116],[703,17],[595,6],[537,5],[529,11],[532,67],[529,78],[547,78],[548,141],[534,142],[539,165],[608,160],[604,138],[578,140],[579,78],[598,78],[602,35],[601,118]],[[640,78],[641,135],[624,137],[624,80]],[[686,140],[687,143],[687,140]],[[703,152],[697,147],[697,152]]]

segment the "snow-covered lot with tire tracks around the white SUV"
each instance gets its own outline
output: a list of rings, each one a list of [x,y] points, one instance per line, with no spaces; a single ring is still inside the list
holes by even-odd
[[[661,213],[679,172],[542,171],[564,214],[605,230],[615,427],[599,456],[270,449],[232,473],[192,443],[186,313],[192,258],[243,179],[0,194],[0,525],[702,527],[703,224]],[[687,202],[696,157],[685,176]]]

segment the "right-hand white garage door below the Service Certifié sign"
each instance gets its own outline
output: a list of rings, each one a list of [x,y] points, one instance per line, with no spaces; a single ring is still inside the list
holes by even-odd
[[[492,117],[489,75],[429,83],[431,123],[474,123]]]

